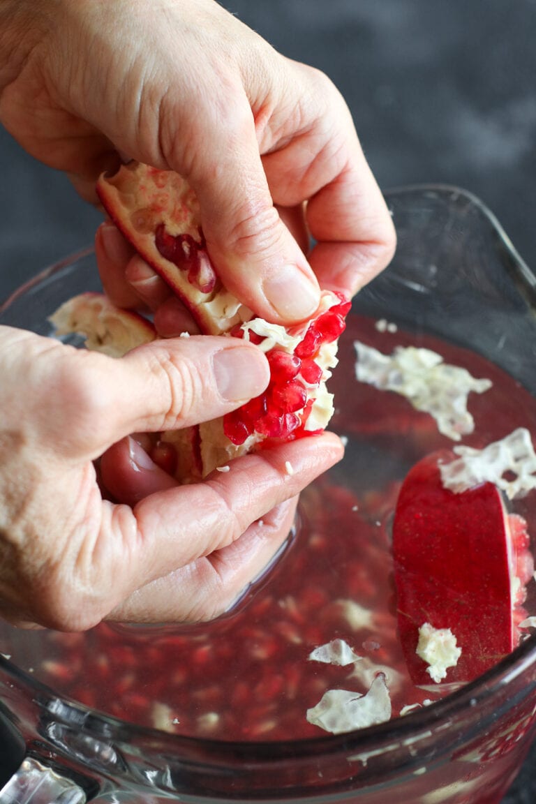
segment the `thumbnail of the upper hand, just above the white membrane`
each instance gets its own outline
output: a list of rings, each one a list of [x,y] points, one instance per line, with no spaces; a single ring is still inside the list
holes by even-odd
[[[296,265],[286,265],[263,283],[264,295],[281,318],[302,321],[310,318],[320,301],[318,285]]]

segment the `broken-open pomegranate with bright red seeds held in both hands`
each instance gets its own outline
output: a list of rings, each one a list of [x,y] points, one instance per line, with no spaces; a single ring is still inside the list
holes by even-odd
[[[324,291],[317,313],[297,326],[255,318],[211,265],[198,201],[183,178],[132,162],[112,177],[102,175],[97,191],[117,227],[182,299],[203,334],[248,339],[260,346],[270,363],[271,379],[264,394],[222,420],[162,433],[158,449],[153,449],[154,460],[167,470],[173,467],[179,480],[191,481],[252,449],[325,429],[333,414],[333,396],[325,382],[337,364],[338,337],[350,301]],[[149,322],[145,332],[139,317],[118,310],[104,297],[96,301],[98,294],[92,298],[89,306],[87,294],[76,297],[53,316],[59,334],[82,331],[88,347],[101,349],[102,309],[108,321],[106,344],[110,347],[113,342],[114,355],[145,343],[149,332],[154,337]]]

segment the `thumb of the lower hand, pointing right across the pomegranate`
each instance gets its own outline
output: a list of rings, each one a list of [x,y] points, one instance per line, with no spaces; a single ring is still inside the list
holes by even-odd
[[[157,339],[114,359],[6,330],[13,382],[31,382],[28,431],[63,460],[95,460],[129,433],[217,419],[268,386],[266,356],[238,338]],[[44,434],[44,440],[43,440]]]

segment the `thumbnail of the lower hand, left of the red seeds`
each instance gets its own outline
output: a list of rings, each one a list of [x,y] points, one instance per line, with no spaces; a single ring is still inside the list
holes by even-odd
[[[230,402],[251,400],[268,385],[268,360],[248,347],[217,351],[213,367],[219,393]]]

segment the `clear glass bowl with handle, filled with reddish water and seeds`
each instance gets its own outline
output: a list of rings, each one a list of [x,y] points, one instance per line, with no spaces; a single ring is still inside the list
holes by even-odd
[[[504,404],[478,408],[479,439],[501,437],[516,416],[529,423],[534,419],[535,280],[497,220],[478,199],[453,187],[407,187],[388,193],[387,202],[398,232],[397,254],[389,269],[354,301],[341,341],[341,363],[331,384],[337,405],[333,429],[348,440],[346,457],[303,495],[297,534],[268,575],[215,626],[186,634],[189,656],[191,646],[199,644],[195,640],[203,642],[203,632],[209,634],[209,642],[218,629],[232,638],[236,624],[248,621],[274,585],[280,585],[280,593],[281,585],[287,584],[288,596],[280,597],[280,607],[290,610],[289,601],[296,603],[293,572],[291,580],[284,572],[299,555],[297,543],[313,535],[327,536],[336,544],[350,512],[359,517],[358,528],[377,533],[378,544],[383,545],[378,554],[367,553],[362,566],[370,568],[369,600],[376,601],[384,619],[392,617],[388,539],[396,491],[411,465],[446,440],[430,426],[427,414],[408,414],[406,400],[397,407],[387,396],[370,396],[358,385],[354,340],[364,335],[377,338],[383,351],[401,338],[417,346],[439,344],[449,354],[467,355],[469,362],[488,366],[499,384],[507,378]],[[88,249],[14,293],[0,308],[0,323],[52,334],[47,318],[63,301],[99,288],[93,252]],[[79,343],[80,338],[71,340]],[[464,443],[477,441],[468,437]],[[359,510],[353,504],[356,499]],[[533,526],[536,533],[534,493],[522,501],[521,512],[529,532]],[[372,537],[370,544],[375,544]],[[333,561],[313,566],[321,578],[315,587],[319,597],[313,601],[317,613],[307,617],[304,629],[323,621],[350,561],[351,556],[342,554],[338,565]],[[380,575],[383,586],[374,589]],[[294,576],[299,585],[297,573]],[[361,583],[364,588],[365,580]],[[526,604],[530,613],[530,606],[536,609],[535,597],[530,589]],[[158,658],[166,653],[158,654],[158,646],[182,638],[180,628],[103,627],[105,639],[91,632],[60,636],[0,626],[4,654],[0,655],[0,740],[6,746],[0,759],[0,804],[26,802],[31,795],[35,795],[32,802],[48,804],[86,800],[385,804],[393,796],[406,804],[498,804],[518,773],[536,728],[536,636],[527,637],[480,678],[464,687],[445,687],[448,694],[436,696],[432,704],[421,701],[428,705],[388,722],[338,735],[276,725],[272,732],[260,729],[237,739],[238,731],[211,732],[210,719],[203,720],[207,730],[202,733],[183,728],[173,717],[166,689],[180,662],[159,666]],[[291,645],[288,630],[286,638]],[[113,675],[124,671],[125,662],[145,667],[141,675],[134,675],[132,694],[120,702],[117,679],[99,676],[109,658],[106,646],[122,657],[114,660]],[[380,646],[369,641],[368,647]],[[281,664],[270,666],[272,698],[280,695],[284,659],[281,656]],[[252,675],[240,677],[243,670],[232,655],[217,671],[220,683],[214,685],[215,695],[222,689],[234,695],[240,684],[245,690],[243,708],[236,704],[233,713],[234,728],[239,729],[250,708],[259,704],[262,690]],[[197,695],[195,683],[193,678],[188,681],[183,700]],[[298,690],[296,695],[300,694]],[[141,713],[136,708],[141,699],[145,706],[148,699],[153,705],[152,720],[145,709]],[[280,712],[292,710],[288,701],[282,701]],[[160,707],[157,715],[155,703]]]

